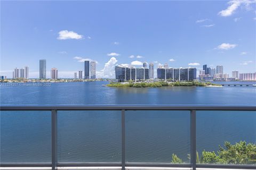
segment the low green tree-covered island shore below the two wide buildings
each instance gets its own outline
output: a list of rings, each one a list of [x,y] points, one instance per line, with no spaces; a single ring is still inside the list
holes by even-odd
[[[186,81],[186,82],[168,82],[168,81],[155,81],[155,82],[114,82],[111,81],[106,85],[107,87],[133,87],[133,88],[147,88],[147,87],[164,87],[164,86],[205,86],[205,87],[222,87],[221,84],[214,84],[211,82],[199,81]]]

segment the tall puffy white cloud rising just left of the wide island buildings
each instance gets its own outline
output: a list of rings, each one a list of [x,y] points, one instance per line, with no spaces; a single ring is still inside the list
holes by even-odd
[[[101,71],[96,72],[97,78],[114,78],[116,63],[116,58],[111,57],[109,61],[105,63],[104,68]]]

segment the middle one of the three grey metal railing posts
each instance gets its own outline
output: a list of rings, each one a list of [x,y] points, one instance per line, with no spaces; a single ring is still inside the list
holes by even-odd
[[[125,170],[125,111],[122,109],[122,116],[121,116],[121,126],[122,126],[122,170]]]

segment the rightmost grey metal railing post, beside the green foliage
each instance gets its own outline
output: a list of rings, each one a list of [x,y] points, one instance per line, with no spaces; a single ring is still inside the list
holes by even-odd
[[[196,111],[190,111],[190,164],[196,170]]]

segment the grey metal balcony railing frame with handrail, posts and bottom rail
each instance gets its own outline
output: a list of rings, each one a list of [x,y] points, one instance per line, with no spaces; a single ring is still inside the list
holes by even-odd
[[[47,106],[19,106],[4,105],[1,111],[51,111],[51,163],[1,163],[1,167],[48,167],[57,169],[58,167],[173,167],[173,168],[227,168],[227,169],[256,169],[256,165],[220,165],[220,164],[197,164],[197,146],[196,146],[196,112],[197,111],[256,111],[256,106],[215,106],[215,105],[92,105],[92,106],[74,106],[74,105],[47,105]],[[57,115],[59,111],[120,111],[121,114],[121,163],[58,163],[57,159]],[[128,163],[125,158],[126,152],[126,111],[189,111],[190,112],[190,163],[169,164],[169,163]],[[59,112],[59,113],[58,113]],[[255,112],[253,112],[255,113]],[[29,148],[28,148],[29,149]]]

